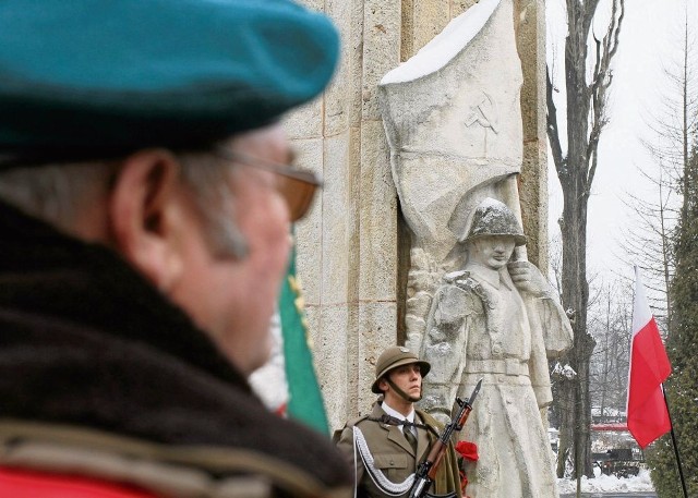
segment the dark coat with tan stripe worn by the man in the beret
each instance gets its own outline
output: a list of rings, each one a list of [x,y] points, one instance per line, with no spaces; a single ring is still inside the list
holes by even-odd
[[[0,465],[164,496],[218,496],[236,483],[273,496],[350,493],[332,442],[269,413],[113,252],[1,204],[0,233]],[[238,496],[269,495],[255,493]]]

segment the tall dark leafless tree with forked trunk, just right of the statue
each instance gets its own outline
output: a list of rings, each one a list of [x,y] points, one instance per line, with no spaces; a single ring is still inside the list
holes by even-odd
[[[553,78],[547,72],[547,138],[563,191],[563,305],[574,314],[575,340],[567,354],[577,375],[562,393],[574,410],[562,417],[559,447],[563,454],[574,448],[575,475],[593,476],[591,467],[591,402],[589,364],[594,339],[587,331],[587,206],[598,166],[598,146],[607,122],[606,97],[613,80],[611,62],[618,47],[625,13],[624,0],[610,0],[611,15],[605,33],[592,33],[599,0],[566,0],[565,39],[566,143],[561,142]],[[574,428],[574,430],[570,430]],[[573,440],[569,440],[569,437]],[[564,467],[558,465],[562,476]]]

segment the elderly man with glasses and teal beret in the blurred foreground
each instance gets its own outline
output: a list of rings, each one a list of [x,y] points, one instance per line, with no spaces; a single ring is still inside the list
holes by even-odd
[[[0,496],[349,493],[245,379],[337,46],[287,0],[0,4]]]

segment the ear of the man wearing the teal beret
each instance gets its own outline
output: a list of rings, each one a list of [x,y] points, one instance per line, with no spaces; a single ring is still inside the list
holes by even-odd
[[[128,157],[109,198],[111,232],[118,251],[161,291],[183,267],[178,233],[183,222],[178,190],[179,161],[165,149]]]

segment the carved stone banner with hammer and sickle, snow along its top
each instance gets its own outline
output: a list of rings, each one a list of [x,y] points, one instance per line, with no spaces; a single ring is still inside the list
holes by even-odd
[[[520,221],[522,74],[512,26],[513,0],[481,0],[378,87],[393,178],[413,234],[406,319],[414,351],[442,276],[462,267],[477,205],[500,199]]]

